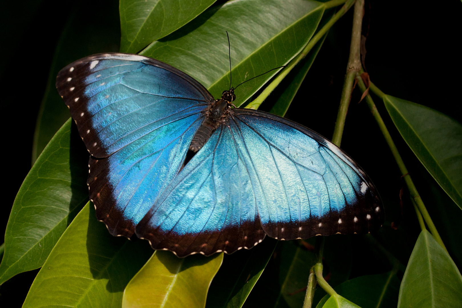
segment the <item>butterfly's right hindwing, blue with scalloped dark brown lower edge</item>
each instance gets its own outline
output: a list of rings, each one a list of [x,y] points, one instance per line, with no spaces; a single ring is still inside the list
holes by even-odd
[[[141,220],[137,235],[180,257],[261,242],[258,196],[239,150],[230,129],[219,127]]]

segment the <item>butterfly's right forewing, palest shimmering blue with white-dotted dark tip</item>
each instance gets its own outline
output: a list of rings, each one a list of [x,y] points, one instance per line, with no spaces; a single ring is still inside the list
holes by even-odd
[[[234,117],[265,194],[265,233],[292,240],[368,233],[384,220],[369,177],[343,151],[310,129],[258,110]]]

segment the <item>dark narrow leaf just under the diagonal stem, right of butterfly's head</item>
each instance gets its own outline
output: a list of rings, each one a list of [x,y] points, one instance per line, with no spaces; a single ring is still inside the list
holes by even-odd
[[[316,43],[315,47],[311,49],[306,58],[301,60],[300,63],[298,63],[297,66],[293,68],[292,72],[287,75],[284,81],[282,81],[281,84],[278,85],[278,87],[274,90],[274,94],[276,94],[278,97],[268,97],[269,99],[276,99],[276,103],[274,103],[273,108],[271,108],[269,111],[270,113],[279,116],[286,115],[286,112],[289,109],[293,98],[297,94],[298,89],[300,89],[306,74],[316,59],[316,55],[321,49],[322,43],[326,39],[326,36],[327,34]]]

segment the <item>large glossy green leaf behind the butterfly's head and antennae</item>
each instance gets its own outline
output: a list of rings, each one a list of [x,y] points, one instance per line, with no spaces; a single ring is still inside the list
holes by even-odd
[[[214,97],[230,86],[230,34],[233,86],[288,63],[316,30],[324,5],[311,0],[230,1],[214,6],[187,27],[153,42],[140,54],[168,63],[204,85]],[[251,97],[277,70],[236,91],[236,106]]]

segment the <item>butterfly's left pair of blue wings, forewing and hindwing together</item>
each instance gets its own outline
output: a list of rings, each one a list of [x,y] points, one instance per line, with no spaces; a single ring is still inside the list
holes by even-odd
[[[56,87],[91,154],[97,218],[130,237],[181,168],[201,113],[213,101],[196,80],[134,54],[96,54],[63,68]]]

